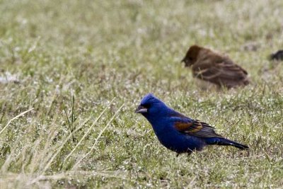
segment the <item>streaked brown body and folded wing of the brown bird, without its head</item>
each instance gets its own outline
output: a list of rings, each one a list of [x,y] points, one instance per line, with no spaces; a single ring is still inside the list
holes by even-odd
[[[200,59],[192,67],[192,71],[194,76],[199,79],[228,88],[249,83],[248,72],[233,63],[229,57],[214,55]]]

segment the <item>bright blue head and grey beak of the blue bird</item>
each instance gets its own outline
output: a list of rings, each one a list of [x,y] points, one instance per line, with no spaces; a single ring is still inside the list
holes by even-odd
[[[171,108],[156,98],[152,93],[147,94],[142,98],[140,105],[137,107],[135,113],[141,113],[147,119],[163,117],[168,115]]]

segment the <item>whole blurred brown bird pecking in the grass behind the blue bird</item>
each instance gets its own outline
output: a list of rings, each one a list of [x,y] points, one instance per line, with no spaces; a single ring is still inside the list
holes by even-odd
[[[192,45],[181,62],[185,62],[185,67],[192,67],[193,76],[219,87],[233,88],[250,83],[245,69],[235,64],[229,57],[204,47]]]

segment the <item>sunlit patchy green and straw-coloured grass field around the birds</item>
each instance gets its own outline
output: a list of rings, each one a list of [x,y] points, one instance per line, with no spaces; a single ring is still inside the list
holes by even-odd
[[[283,1],[0,0],[0,188],[280,188]],[[252,84],[202,90],[180,60],[224,52]],[[191,156],[134,114],[146,93],[249,151]]]

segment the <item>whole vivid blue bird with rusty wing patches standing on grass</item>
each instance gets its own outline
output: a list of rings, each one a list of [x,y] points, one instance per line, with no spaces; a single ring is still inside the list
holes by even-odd
[[[192,151],[201,151],[207,145],[233,146],[238,149],[248,149],[248,146],[239,144],[221,137],[205,122],[188,118],[185,115],[169,108],[152,93],[141,100],[135,113],[141,113],[151,123],[159,142],[164,147],[177,154]]]

